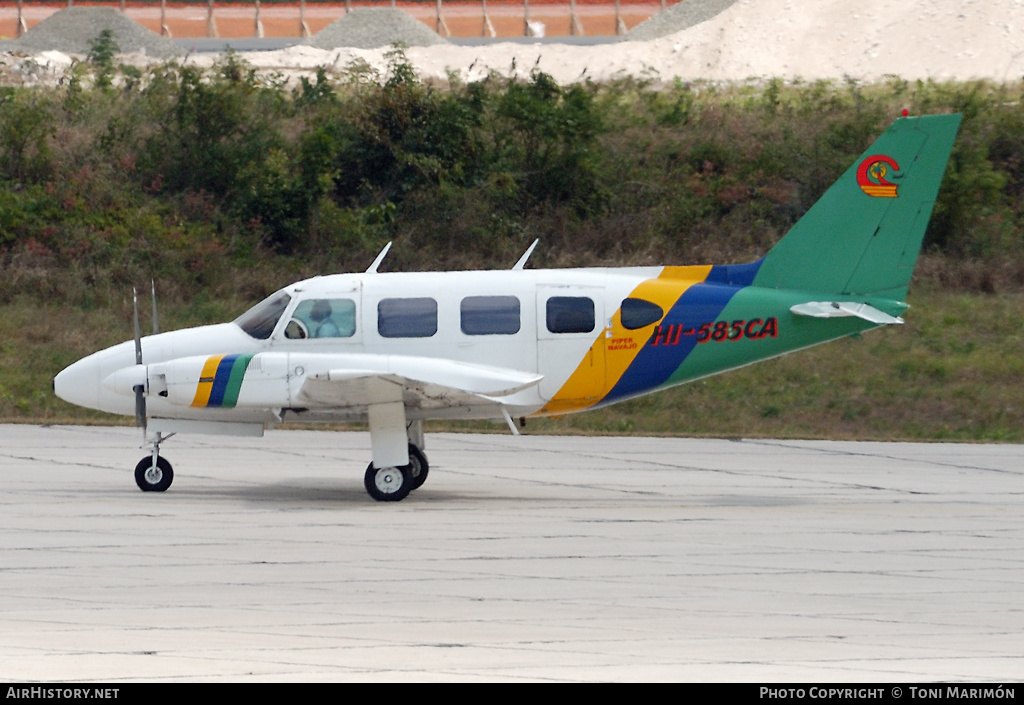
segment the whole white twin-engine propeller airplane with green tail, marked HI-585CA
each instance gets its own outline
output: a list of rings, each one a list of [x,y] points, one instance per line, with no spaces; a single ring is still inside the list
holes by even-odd
[[[261,436],[284,420],[367,420],[365,485],[427,478],[425,419],[559,415],[898,318],[959,116],[897,120],[749,264],[364,274],[293,284],[232,323],[141,337],[54,379],[61,399],[136,416],[145,491],[171,485],[177,432]],[[537,243],[534,243],[536,245]]]

